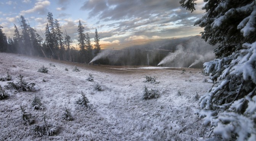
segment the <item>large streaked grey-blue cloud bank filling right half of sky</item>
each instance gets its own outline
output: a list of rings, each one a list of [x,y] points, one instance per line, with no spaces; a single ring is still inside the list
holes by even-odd
[[[163,34],[170,36],[172,33],[165,33],[162,29],[192,27],[195,20],[203,15],[203,11],[200,10],[203,6],[203,0],[199,0],[198,3],[199,6],[196,5],[197,10],[193,13],[181,8],[177,0],[162,0],[161,2],[155,0],[147,0],[146,2],[138,0],[88,0],[83,3],[80,10],[89,12],[88,18],[101,19],[101,24],[104,24],[104,27],[111,28],[111,31],[115,33],[109,36],[111,38],[117,38],[123,34],[129,36],[143,34],[148,37],[152,37],[153,34],[164,37]],[[186,32],[182,33],[186,34]],[[133,39],[130,37],[126,41]]]

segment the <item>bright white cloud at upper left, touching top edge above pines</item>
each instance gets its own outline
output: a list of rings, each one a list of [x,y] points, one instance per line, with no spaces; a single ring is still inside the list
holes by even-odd
[[[46,13],[46,6],[49,6],[49,1],[43,1],[43,2],[37,2],[35,3],[35,6],[32,9],[29,10],[23,10],[21,11],[21,15],[29,14],[29,13],[38,13],[38,14],[45,14]]]

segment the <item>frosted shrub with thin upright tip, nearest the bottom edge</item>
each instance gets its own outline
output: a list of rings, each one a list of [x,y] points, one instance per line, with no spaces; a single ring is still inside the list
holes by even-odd
[[[45,114],[43,114],[44,123],[41,125],[33,125],[30,130],[33,130],[38,136],[54,136],[58,132],[58,127],[53,124],[48,124],[45,120]]]

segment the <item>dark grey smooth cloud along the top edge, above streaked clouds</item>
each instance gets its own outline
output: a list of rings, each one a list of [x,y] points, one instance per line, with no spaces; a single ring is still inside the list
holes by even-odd
[[[90,11],[90,17],[98,16],[102,20],[121,20],[139,18],[147,19],[154,14],[166,13],[171,9],[178,8],[176,0],[90,0],[84,3],[81,10]],[[99,12],[102,11],[102,12]]]

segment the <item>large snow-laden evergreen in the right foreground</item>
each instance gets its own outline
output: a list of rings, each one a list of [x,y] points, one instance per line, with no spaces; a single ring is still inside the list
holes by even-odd
[[[195,0],[181,0],[191,12]],[[198,111],[211,132],[224,140],[256,140],[256,1],[205,0],[206,10],[195,25],[202,38],[219,46],[216,59],[204,63],[214,81],[200,99]]]

